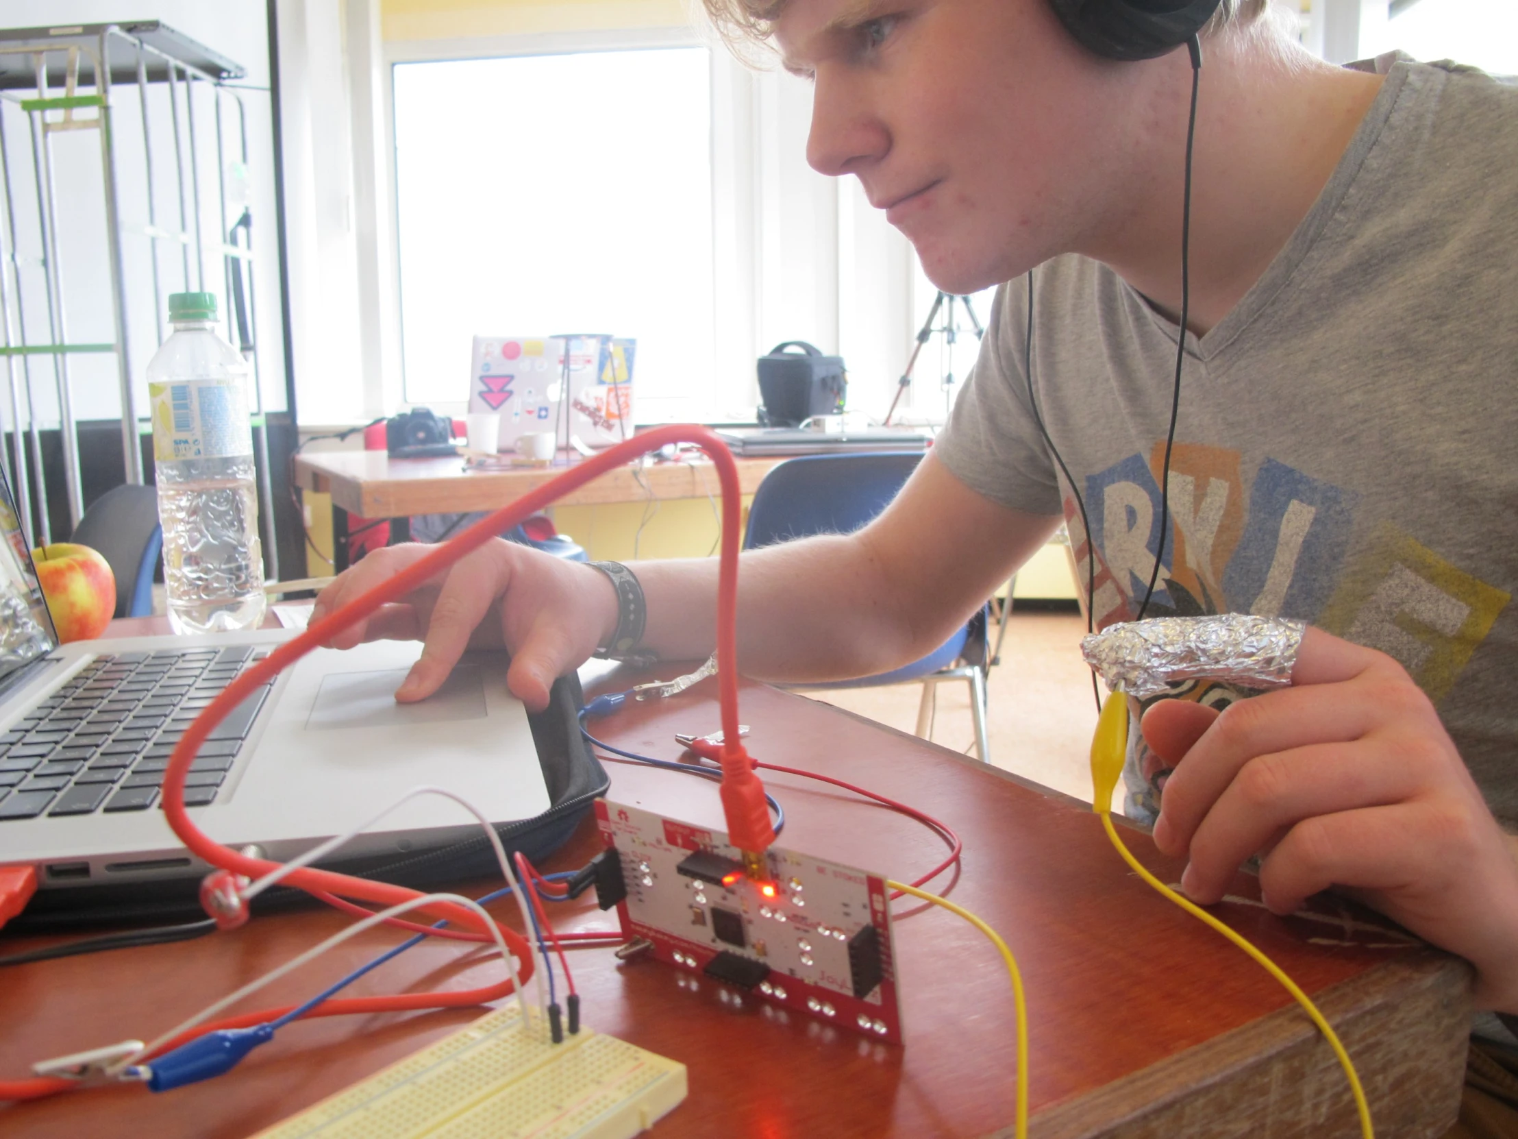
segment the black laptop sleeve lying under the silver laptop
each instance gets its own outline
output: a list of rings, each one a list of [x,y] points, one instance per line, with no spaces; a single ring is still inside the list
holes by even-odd
[[[569,840],[591,809],[591,803],[612,785],[601,761],[580,735],[578,712],[583,705],[580,677],[571,673],[554,682],[548,694],[548,708],[527,714],[533,743],[537,746],[537,762],[542,764],[543,781],[548,785],[550,806],[536,819],[496,826],[507,855],[521,850],[530,861],[542,861]],[[419,850],[414,855],[387,853],[346,860],[340,850],[337,855],[317,866],[354,878],[411,888],[499,876],[495,852],[484,831],[477,831],[452,846]],[[52,934],[97,925],[194,922],[206,916],[200,908],[199,890],[199,878],[38,890],[26,910],[6,923],[5,932]],[[250,908],[257,916],[310,902],[311,896],[304,890],[276,885],[258,894]]]

